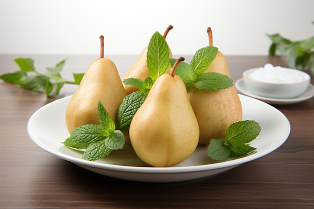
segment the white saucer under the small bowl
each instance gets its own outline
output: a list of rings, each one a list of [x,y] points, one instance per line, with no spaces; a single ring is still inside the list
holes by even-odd
[[[301,94],[298,97],[292,98],[292,99],[276,99],[276,98],[268,98],[268,97],[262,97],[262,96],[257,96],[253,94],[245,85],[243,78],[237,80],[235,82],[235,87],[236,89],[247,96],[253,97],[255,99],[259,99],[263,102],[267,102],[268,104],[294,104],[294,103],[299,103],[303,102],[307,99],[310,99],[311,97],[314,96],[314,86],[312,84],[309,84],[307,89],[303,94]]]

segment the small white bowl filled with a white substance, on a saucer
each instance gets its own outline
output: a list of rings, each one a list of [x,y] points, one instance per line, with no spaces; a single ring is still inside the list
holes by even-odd
[[[243,73],[246,87],[255,95],[290,99],[301,95],[308,87],[310,76],[300,70],[266,64]]]

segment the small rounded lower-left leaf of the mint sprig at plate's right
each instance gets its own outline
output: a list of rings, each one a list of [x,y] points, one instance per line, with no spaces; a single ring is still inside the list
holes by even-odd
[[[212,139],[207,148],[207,156],[214,160],[226,160],[230,156],[230,149],[225,142],[225,139]]]

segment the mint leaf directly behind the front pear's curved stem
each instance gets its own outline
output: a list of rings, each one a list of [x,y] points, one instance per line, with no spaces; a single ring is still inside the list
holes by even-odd
[[[177,59],[169,59],[171,67],[173,67],[177,61]],[[192,86],[193,82],[196,80],[196,73],[192,70],[192,67],[186,62],[180,62],[177,66],[175,75],[180,76],[183,80],[187,89]]]

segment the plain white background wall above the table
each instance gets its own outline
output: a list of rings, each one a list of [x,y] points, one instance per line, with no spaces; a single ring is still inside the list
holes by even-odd
[[[137,55],[155,31],[175,55],[208,44],[225,55],[267,55],[266,34],[314,36],[313,0],[0,0],[0,54]]]

